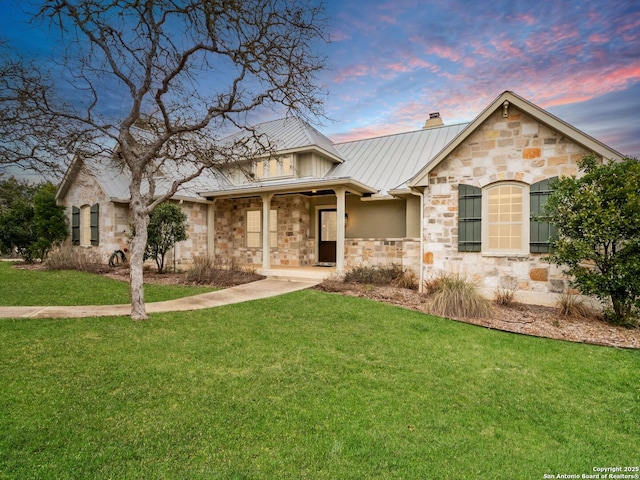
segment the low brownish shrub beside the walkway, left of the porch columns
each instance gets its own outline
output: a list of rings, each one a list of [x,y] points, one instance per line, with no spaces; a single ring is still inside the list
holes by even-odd
[[[187,282],[198,285],[209,284],[221,287],[240,285],[264,278],[253,269],[248,269],[235,259],[223,262],[219,257],[195,257],[192,267],[186,272]]]

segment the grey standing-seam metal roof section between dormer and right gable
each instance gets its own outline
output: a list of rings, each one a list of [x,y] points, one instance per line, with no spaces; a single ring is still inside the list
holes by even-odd
[[[337,144],[347,160],[336,165],[327,177],[350,177],[386,195],[405,186],[466,126],[433,127]]]

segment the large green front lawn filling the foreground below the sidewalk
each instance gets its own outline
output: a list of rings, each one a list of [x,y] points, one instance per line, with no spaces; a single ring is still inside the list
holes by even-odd
[[[640,352],[365,299],[2,320],[0,345],[2,479],[542,479],[640,458]]]

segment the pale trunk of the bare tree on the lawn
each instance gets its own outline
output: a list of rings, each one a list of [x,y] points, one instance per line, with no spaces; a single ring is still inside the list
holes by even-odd
[[[135,235],[131,240],[130,259],[130,288],[131,288],[131,319],[146,320],[149,318],[144,303],[144,252],[147,247],[147,226],[149,215],[145,211],[140,198],[131,201],[131,214],[135,226]]]

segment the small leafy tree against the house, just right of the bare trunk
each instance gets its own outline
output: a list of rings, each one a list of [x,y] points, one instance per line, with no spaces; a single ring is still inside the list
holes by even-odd
[[[187,216],[175,203],[161,203],[150,215],[145,260],[153,258],[158,273],[164,272],[164,258],[177,243],[187,239]]]

